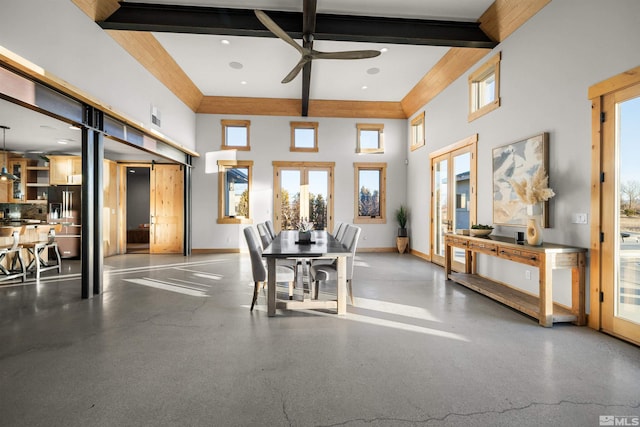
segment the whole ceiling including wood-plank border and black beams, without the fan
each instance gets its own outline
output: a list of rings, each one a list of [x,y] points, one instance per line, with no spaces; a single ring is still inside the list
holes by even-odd
[[[72,1],[195,112],[405,118],[550,0]],[[257,8],[300,45],[383,53],[282,84],[300,53]]]

